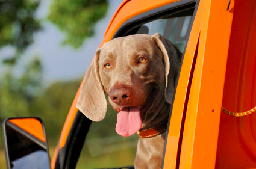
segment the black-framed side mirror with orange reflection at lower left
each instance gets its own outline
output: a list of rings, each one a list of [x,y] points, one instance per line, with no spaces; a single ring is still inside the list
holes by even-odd
[[[8,118],[3,123],[7,168],[51,168],[48,143],[40,118]]]

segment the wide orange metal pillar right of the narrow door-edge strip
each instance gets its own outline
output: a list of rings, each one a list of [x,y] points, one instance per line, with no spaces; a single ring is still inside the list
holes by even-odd
[[[201,4],[200,4],[201,5]],[[179,168],[214,168],[234,1],[204,1]]]

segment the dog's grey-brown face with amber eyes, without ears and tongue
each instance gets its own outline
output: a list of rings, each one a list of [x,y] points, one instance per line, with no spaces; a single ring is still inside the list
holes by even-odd
[[[157,91],[164,91],[163,54],[148,35],[116,38],[99,54],[99,76],[114,109],[152,105]]]

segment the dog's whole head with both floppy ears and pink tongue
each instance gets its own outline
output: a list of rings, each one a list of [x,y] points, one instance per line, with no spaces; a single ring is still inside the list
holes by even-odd
[[[160,34],[115,38],[96,51],[76,106],[90,120],[101,121],[107,111],[107,93],[119,111],[117,133],[134,134],[157,100],[165,97],[172,102],[181,55]]]

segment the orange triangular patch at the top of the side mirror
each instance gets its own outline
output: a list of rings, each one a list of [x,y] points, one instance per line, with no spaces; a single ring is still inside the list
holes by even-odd
[[[45,135],[43,134],[42,124],[39,120],[35,118],[19,118],[8,120],[19,128],[22,128],[24,131],[27,131],[34,137],[45,143]]]

